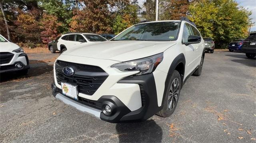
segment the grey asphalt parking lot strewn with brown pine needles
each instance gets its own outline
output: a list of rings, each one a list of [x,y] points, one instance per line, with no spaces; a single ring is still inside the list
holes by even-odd
[[[117,124],[52,96],[57,56],[29,54],[27,76],[1,76],[0,142],[256,142],[256,60],[244,53],[206,53],[202,75],[186,81],[169,118]]]

